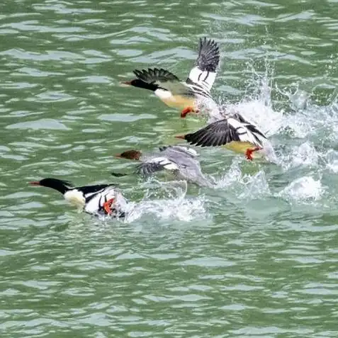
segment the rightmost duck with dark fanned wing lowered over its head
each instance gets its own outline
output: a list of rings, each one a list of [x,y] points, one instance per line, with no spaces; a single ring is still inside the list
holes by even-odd
[[[210,123],[195,133],[179,135],[176,138],[202,147],[224,145],[229,150],[244,153],[249,160],[253,159],[254,152],[263,149],[262,142],[266,140],[266,136],[239,113]]]

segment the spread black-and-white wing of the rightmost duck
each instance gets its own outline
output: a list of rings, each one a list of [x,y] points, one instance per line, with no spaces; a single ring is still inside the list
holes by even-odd
[[[211,123],[196,133],[186,134],[184,140],[202,147],[217,147],[230,142],[249,142],[261,147],[259,137],[266,138],[254,125],[231,117]]]

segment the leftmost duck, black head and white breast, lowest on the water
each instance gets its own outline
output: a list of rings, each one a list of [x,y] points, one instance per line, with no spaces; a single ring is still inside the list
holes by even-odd
[[[125,217],[127,201],[113,184],[74,187],[69,181],[50,178],[33,181],[30,184],[60,191],[66,201],[91,215],[103,213],[118,218]]]

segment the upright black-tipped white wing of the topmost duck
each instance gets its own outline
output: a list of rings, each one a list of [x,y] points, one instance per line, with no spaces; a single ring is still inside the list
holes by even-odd
[[[206,91],[210,91],[216,79],[219,62],[220,50],[218,44],[214,40],[201,38],[195,67],[191,69],[186,83],[197,84]]]

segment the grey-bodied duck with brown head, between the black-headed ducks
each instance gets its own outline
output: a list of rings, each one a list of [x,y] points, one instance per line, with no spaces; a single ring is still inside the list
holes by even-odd
[[[192,148],[179,145],[159,147],[159,152],[142,154],[138,150],[128,150],[116,157],[135,159],[142,163],[137,166],[136,174],[150,176],[157,171],[170,171],[176,179],[184,179],[199,186],[212,187],[214,184],[207,179],[201,170],[200,163],[196,157],[197,152]],[[125,176],[125,174],[112,173],[114,176]]]

